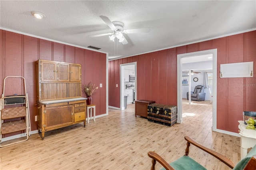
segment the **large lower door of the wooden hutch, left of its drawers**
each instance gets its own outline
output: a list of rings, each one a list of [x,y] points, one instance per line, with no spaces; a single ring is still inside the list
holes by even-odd
[[[73,105],[55,106],[45,108],[45,130],[50,128],[65,127],[73,123]]]

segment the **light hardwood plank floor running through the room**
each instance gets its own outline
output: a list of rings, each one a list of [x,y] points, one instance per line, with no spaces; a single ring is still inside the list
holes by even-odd
[[[134,104],[125,111],[109,109],[96,122],[46,132],[44,140],[32,134],[28,141],[0,148],[1,170],[150,170],[148,151],[167,162],[184,155],[190,136],[221,152],[235,164],[240,160],[240,138],[212,132],[209,101],[183,100],[182,124],[167,127],[134,116]],[[213,156],[190,146],[190,157],[208,170],[230,169]],[[156,169],[162,168],[156,164]]]

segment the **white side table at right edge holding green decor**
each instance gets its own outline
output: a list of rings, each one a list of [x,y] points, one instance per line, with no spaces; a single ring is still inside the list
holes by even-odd
[[[241,159],[247,155],[247,149],[256,145],[256,130],[246,129],[244,121],[238,121],[239,134],[241,135]]]

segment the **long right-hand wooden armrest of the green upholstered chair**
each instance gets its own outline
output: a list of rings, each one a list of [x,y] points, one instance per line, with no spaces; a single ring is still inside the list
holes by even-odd
[[[201,144],[197,143],[196,141],[192,140],[190,137],[185,136],[184,137],[186,141],[188,141],[189,143],[193,144],[194,146],[204,150],[205,152],[207,152],[208,154],[211,154],[212,156],[214,156],[215,158],[217,158],[218,160],[222,161],[224,164],[226,164],[227,166],[229,166],[230,168],[234,168],[235,164],[228,158],[226,158],[226,156],[215,152],[214,150],[211,150],[210,148],[206,148],[205,146],[202,146]]]

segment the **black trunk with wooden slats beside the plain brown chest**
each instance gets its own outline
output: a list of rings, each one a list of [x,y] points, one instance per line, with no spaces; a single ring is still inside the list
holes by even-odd
[[[173,126],[177,122],[177,106],[158,103],[148,105],[148,121]]]

